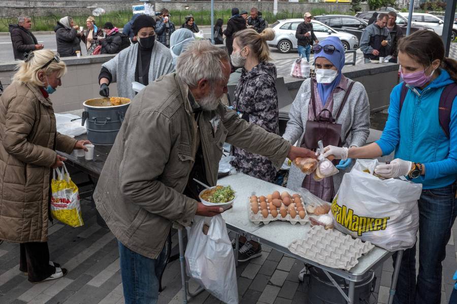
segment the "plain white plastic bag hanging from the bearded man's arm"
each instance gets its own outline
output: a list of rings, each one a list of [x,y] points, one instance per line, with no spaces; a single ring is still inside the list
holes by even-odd
[[[187,275],[227,304],[238,304],[237,273],[232,243],[220,214],[211,217],[208,235],[205,217],[195,216],[185,253]]]

